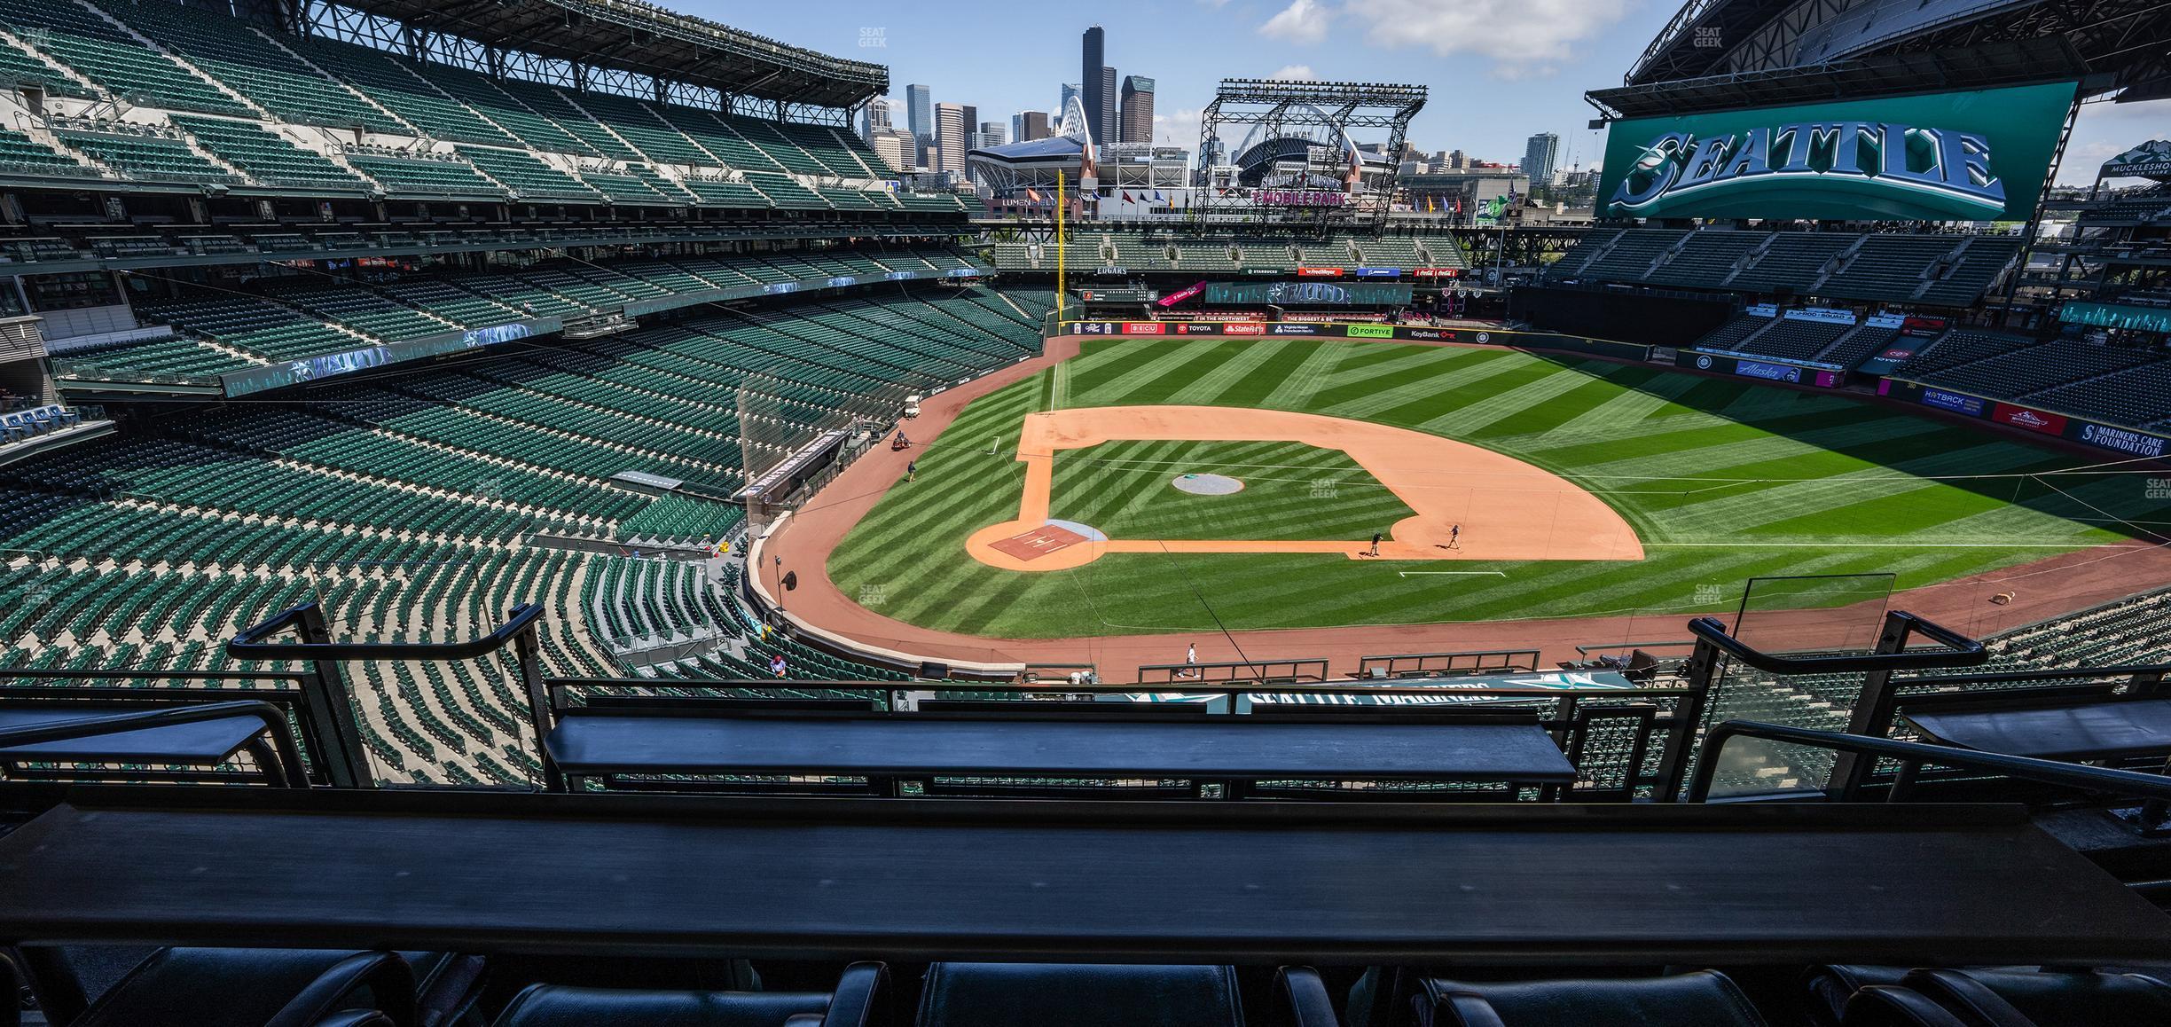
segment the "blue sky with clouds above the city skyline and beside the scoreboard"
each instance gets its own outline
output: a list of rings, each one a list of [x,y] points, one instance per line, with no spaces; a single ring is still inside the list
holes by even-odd
[[[1596,163],[1585,89],[1620,85],[1678,0],[1105,0],[1075,4],[738,2],[666,7],[786,43],[890,65],[894,98],[925,83],[983,122],[1053,111],[1079,78],[1079,35],[1107,30],[1107,63],[1157,80],[1155,141],[1198,145],[1198,109],[1224,78],[1418,83],[1431,102],[1411,124],[1420,150],[1522,159],[1533,132],[1559,132],[1563,159]],[[864,43],[864,46],[862,46]],[[2171,135],[2171,102],[2091,104],[2065,182],[2149,137]],[[1359,137],[1359,141],[1366,141]]]

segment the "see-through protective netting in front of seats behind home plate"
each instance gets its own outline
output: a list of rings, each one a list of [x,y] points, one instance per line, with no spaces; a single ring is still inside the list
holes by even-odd
[[[738,460],[747,476],[738,495],[747,530],[764,532],[864,452],[873,434],[888,432],[910,391],[881,384],[858,393],[749,373],[738,384]]]

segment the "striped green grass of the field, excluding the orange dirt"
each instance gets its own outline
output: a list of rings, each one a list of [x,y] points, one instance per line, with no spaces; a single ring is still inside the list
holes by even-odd
[[[1329,554],[1112,554],[1072,571],[1014,573],[966,556],[973,530],[1016,517],[1014,449],[1027,413],[1142,404],[1305,410],[1485,445],[1613,504],[1648,558],[1459,560],[1457,571],[1502,578],[1402,578],[1426,567]],[[1201,465],[1122,462],[1170,456]],[[1257,482],[1257,469],[1244,469],[1307,458],[1322,460],[1320,473],[1363,476],[1309,447],[1105,443],[1057,458],[1053,515],[1118,538],[1366,538],[1372,525],[1407,517],[1372,508],[1379,497],[1400,502],[1370,478],[1340,491],[1346,502],[1320,504],[1313,467],[1290,482]],[[1092,341],[1081,356],[973,402],[918,458],[918,480],[892,489],[845,538],[829,575],[847,595],[879,586],[884,614],[1016,638],[1676,614],[1730,608],[1756,575],[1891,571],[1910,588],[2141,532],[2121,521],[2171,521],[2171,504],[2149,499],[2143,476],[2073,471],[2091,462],[2110,458],[1839,395],[1570,356],[1311,339]],[[1181,495],[1168,486],[1181,471],[1229,473],[1248,489]]]

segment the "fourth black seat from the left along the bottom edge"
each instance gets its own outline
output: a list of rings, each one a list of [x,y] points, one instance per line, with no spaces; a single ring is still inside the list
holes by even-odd
[[[1761,1027],[1765,1020],[1722,973],[1646,979],[1463,984],[1424,979],[1418,1027]]]

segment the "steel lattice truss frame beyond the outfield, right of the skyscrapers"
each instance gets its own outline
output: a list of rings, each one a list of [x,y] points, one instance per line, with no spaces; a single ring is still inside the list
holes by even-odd
[[[1209,152],[1207,141],[1220,139],[1224,126],[1250,126],[1248,137],[1264,141],[1292,132],[1311,135],[1307,130],[1348,139],[1350,128],[1385,128],[1387,154],[1400,154],[1409,139],[1409,119],[1424,109],[1426,96],[1422,85],[1222,78],[1214,102],[1198,117],[1198,152]],[[1394,191],[1392,176],[1381,189]],[[1231,200],[1207,189],[1205,206],[1205,215],[1214,217],[1216,208],[1231,206]],[[1244,206],[1248,208],[1248,200]],[[1376,204],[1374,217],[1385,221],[1385,202]]]

